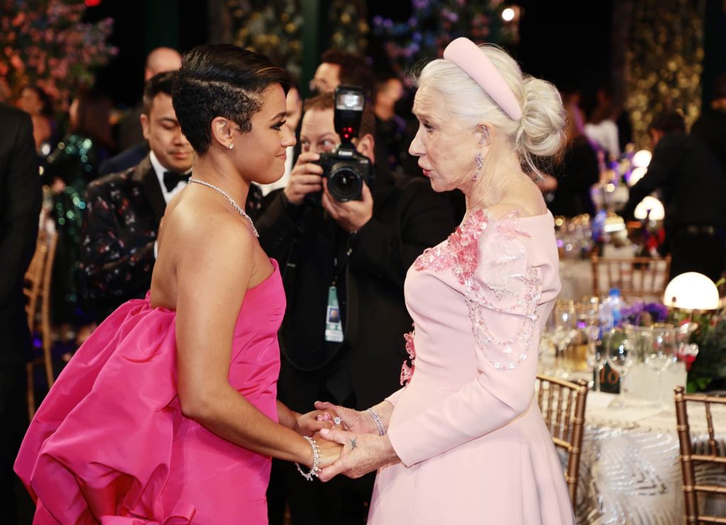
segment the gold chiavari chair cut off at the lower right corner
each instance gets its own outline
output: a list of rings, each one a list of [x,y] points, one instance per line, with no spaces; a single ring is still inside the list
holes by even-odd
[[[714,434],[714,420],[711,417],[711,404],[726,405],[726,398],[716,396],[705,396],[702,394],[685,394],[685,388],[675,388],[676,421],[678,441],[680,441],[680,463],[683,474],[683,497],[685,497],[685,524],[720,523],[726,524],[726,518],[718,516],[706,516],[698,510],[698,493],[703,494],[726,494],[726,487],[718,485],[701,485],[696,481],[696,462],[726,465],[726,457],[719,455],[716,437]],[[693,441],[690,438],[688,426],[688,411],[686,402],[701,403],[706,410],[706,424],[709,428],[709,453],[694,454]]]

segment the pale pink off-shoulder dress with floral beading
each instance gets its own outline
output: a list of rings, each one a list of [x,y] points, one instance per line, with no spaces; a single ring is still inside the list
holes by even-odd
[[[539,335],[560,291],[554,221],[475,211],[409,269],[415,321],[369,524],[574,524],[534,399]],[[415,346],[415,349],[413,348]]]

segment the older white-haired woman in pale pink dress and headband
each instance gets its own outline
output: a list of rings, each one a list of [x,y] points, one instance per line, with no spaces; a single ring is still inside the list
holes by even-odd
[[[414,113],[409,151],[467,212],[407,274],[407,386],[364,412],[317,404],[340,426],[324,436],[344,445],[320,479],[380,469],[370,524],[574,523],[534,399],[560,279],[533,159],[563,144],[560,95],[502,49],[458,38],[420,74]]]

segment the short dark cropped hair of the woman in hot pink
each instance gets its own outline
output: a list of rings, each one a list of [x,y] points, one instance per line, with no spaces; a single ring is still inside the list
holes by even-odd
[[[197,46],[181,60],[172,102],[181,132],[198,155],[209,149],[211,122],[229,118],[248,133],[250,119],[262,107],[262,93],[272,84],[290,87],[290,74],[264,54],[232,44]]]

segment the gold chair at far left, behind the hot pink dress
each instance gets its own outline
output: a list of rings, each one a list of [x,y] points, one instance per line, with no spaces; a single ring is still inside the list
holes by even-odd
[[[43,358],[28,363],[28,415],[33,418],[36,412],[35,390],[33,386],[33,366],[36,362],[45,365],[48,388],[53,386],[53,363],[51,360],[52,335],[50,325],[50,285],[55,259],[55,248],[58,236],[55,232],[48,232],[41,227],[36,242],[36,252],[30,261],[28,271],[25,272],[25,314],[28,316],[30,332],[41,335],[43,343]],[[39,301],[39,305],[38,305]],[[38,306],[39,312],[38,312]],[[39,314],[39,315],[38,315]]]

